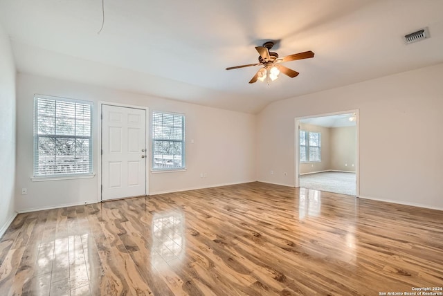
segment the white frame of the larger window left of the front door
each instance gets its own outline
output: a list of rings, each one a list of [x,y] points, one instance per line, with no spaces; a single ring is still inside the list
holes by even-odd
[[[89,105],[89,136],[68,136],[68,135],[57,135],[57,132],[54,131],[54,134],[46,133],[44,135],[39,135],[38,128],[38,102],[39,99],[42,100],[53,100],[55,101],[55,104],[57,102],[69,102],[74,104],[85,104]],[[34,118],[33,118],[33,178],[31,178],[32,181],[44,181],[44,180],[62,180],[62,179],[68,179],[68,178],[92,178],[95,174],[93,174],[93,102],[86,101],[86,100],[76,100],[71,98],[62,98],[57,96],[51,96],[51,95],[34,95]],[[57,115],[55,115],[54,120],[56,120]],[[75,115],[74,115],[74,125],[75,125]],[[75,127],[74,127],[75,129]],[[39,174],[39,163],[38,163],[38,157],[39,157],[39,138],[74,138],[74,139],[87,139],[89,140],[89,148],[88,148],[88,160],[89,160],[89,170],[88,172],[77,172],[77,173],[68,173],[68,174]]]

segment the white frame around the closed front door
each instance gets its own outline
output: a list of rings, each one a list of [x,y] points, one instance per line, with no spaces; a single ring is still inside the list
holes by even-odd
[[[150,191],[149,191],[149,166],[150,166],[150,150],[149,150],[149,145],[150,145],[150,130],[149,130],[149,126],[150,126],[150,113],[149,113],[149,108],[145,107],[145,106],[136,106],[136,105],[130,105],[130,104],[120,104],[120,103],[116,103],[116,102],[106,102],[106,101],[99,101],[98,102],[98,108],[97,108],[97,118],[98,118],[98,129],[97,129],[97,141],[98,141],[98,145],[97,145],[97,165],[98,165],[98,188],[97,188],[97,201],[98,203],[102,202],[102,108],[103,105],[108,105],[108,106],[114,106],[114,107],[125,107],[125,108],[132,108],[132,109],[141,109],[141,110],[145,110],[146,111],[146,167],[145,167],[145,176],[146,176],[146,180],[145,180],[145,192],[146,195],[150,195]]]

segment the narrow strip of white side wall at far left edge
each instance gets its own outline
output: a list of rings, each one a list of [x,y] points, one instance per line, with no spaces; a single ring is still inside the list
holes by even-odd
[[[15,65],[0,25],[0,237],[15,217]]]

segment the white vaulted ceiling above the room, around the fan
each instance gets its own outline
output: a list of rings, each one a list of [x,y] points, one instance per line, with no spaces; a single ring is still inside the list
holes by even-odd
[[[257,113],[298,95],[443,62],[441,0],[0,0],[17,69]],[[431,38],[402,36],[428,26]],[[300,72],[248,84],[255,46],[280,40]]]

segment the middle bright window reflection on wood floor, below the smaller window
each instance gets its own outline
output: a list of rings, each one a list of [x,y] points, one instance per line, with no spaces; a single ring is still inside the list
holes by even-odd
[[[185,246],[184,225],[182,212],[154,214],[151,262],[157,270],[181,261]]]

